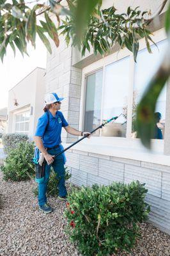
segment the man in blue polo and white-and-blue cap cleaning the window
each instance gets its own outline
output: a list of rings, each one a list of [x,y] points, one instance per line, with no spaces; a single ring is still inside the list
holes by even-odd
[[[81,132],[70,127],[59,111],[61,108],[61,100],[56,93],[48,93],[45,95],[45,112],[39,119],[35,132],[35,144],[38,150],[42,152],[43,157],[47,161],[45,164],[45,176],[42,182],[38,183],[38,205],[39,209],[45,213],[52,212],[52,207],[47,204],[47,184],[49,182],[50,167],[54,168],[54,172],[59,178],[59,199],[66,200],[65,187],[65,156],[60,154],[58,157],[54,156],[63,150],[61,145],[61,129],[64,127],[66,132],[75,136],[85,136],[89,132]]]

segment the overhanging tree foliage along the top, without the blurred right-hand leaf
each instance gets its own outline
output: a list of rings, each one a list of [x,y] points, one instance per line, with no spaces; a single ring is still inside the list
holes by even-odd
[[[105,54],[116,43],[120,47],[127,47],[134,54],[136,60],[139,49],[139,39],[145,38],[148,51],[150,49],[150,30],[148,22],[144,19],[146,12],[139,8],[132,10],[130,6],[127,13],[118,14],[116,8],[102,10],[101,0],[84,1],[68,0],[68,8],[61,5],[61,0],[49,1],[45,4],[33,5],[24,0],[0,0],[0,57],[3,61],[8,45],[15,54],[17,47],[21,54],[27,54],[27,44],[36,46],[36,35],[40,36],[43,44],[51,53],[50,42],[47,36],[52,38],[56,46],[59,45],[58,29],[65,35],[67,44],[72,39],[73,45],[82,46],[82,56],[86,49],[93,47],[94,53]],[[60,24],[60,16],[66,15],[63,24],[57,28],[51,15],[56,17]]]

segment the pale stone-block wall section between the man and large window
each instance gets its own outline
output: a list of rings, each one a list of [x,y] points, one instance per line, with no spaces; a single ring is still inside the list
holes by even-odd
[[[80,68],[72,67],[72,47],[67,47],[65,40],[60,36],[59,47],[50,41],[52,54],[47,53],[47,68],[45,76],[46,92],[56,92],[59,97],[64,97],[61,111],[68,124],[79,129],[79,111],[81,97]],[[63,129],[63,143],[72,143],[76,136],[68,134]]]

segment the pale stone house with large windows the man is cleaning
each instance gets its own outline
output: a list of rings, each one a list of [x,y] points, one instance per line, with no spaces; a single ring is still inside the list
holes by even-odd
[[[155,0],[124,1],[125,6],[132,2],[137,6],[143,3],[143,10],[155,4]],[[104,7],[112,3],[104,1]],[[119,4],[120,12],[124,12],[121,10],[123,1],[114,3]],[[160,3],[157,1],[157,8]],[[162,114],[162,124],[165,123],[165,129],[162,125],[164,140],[153,140],[152,151],[146,150],[135,138],[132,118],[132,110],[158,67],[167,44],[163,18],[164,13],[150,27],[159,51],[151,45],[153,53],[149,54],[142,39],[137,63],[134,63],[132,52],[120,51],[118,45],[104,58],[94,56],[93,51],[81,58],[77,49],[66,47],[63,38],[60,38],[59,48],[52,42],[52,54],[47,56],[45,84],[47,92],[54,91],[59,97],[65,97],[61,111],[68,123],[81,131],[91,131],[103,120],[122,112],[125,114],[115,124],[107,125],[90,140],[83,140],[66,152],[71,181],[85,186],[132,180],[146,183],[150,220],[170,233],[170,83],[160,95],[156,109]],[[63,131],[64,147],[76,139]]]

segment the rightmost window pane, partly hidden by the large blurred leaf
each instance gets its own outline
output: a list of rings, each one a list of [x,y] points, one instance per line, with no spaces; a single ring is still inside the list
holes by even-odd
[[[158,42],[157,46],[151,46],[152,54],[148,53],[147,49],[143,49],[139,51],[137,56],[137,63],[135,63],[135,72],[134,72],[134,100],[133,100],[133,116],[132,116],[132,137],[136,136],[135,132],[135,109],[139,100],[141,99],[144,90],[150,81],[151,76],[156,72],[158,65],[161,61],[162,55],[164,53],[164,49],[166,47],[167,41],[163,40]],[[157,124],[158,127],[162,130],[162,134],[164,137],[164,125],[166,118],[166,86],[164,90],[160,94],[157,100],[157,106],[155,112],[161,114],[161,120]]]

